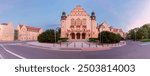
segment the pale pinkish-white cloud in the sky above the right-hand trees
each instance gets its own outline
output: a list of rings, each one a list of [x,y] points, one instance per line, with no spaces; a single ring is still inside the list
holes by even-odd
[[[141,27],[144,24],[150,23],[150,0],[145,0],[139,10],[135,10],[134,18],[131,18],[127,29]]]

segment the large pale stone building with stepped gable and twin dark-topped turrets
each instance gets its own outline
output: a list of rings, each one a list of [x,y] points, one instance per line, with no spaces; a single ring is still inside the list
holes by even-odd
[[[97,22],[95,13],[89,15],[80,5],[74,8],[70,14],[62,13],[61,38],[69,40],[86,40],[97,38]]]

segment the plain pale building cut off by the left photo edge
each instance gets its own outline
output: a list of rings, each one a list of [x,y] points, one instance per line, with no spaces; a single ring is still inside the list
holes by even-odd
[[[0,41],[13,41],[14,40],[14,26],[13,23],[0,24]]]

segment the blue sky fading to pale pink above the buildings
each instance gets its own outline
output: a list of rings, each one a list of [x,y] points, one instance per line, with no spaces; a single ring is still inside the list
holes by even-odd
[[[81,5],[97,23],[107,22],[128,31],[150,23],[150,0],[0,0],[0,23],[42,27],[59,27],[63,11],[67,14]]]

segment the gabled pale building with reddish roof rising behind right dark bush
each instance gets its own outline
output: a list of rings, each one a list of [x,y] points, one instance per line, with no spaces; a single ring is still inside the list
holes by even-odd
[[[115,34],[120,34],[120,36],[124,39],[126,38],[126,35],[127,35],[125,32],[123,32],[122,29],[113,28],[112,26],[108,25],[106,22],[103,22],[100,25],[98,25],[97,29],[99,32],[109,31],[109,32],[113,32]]]

